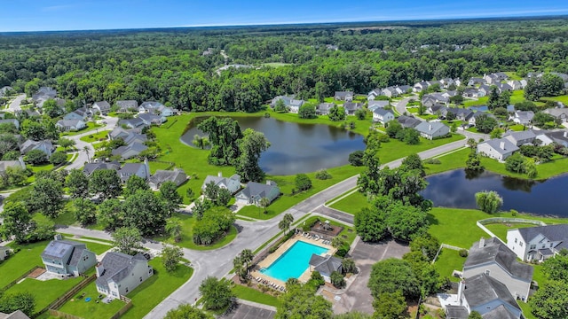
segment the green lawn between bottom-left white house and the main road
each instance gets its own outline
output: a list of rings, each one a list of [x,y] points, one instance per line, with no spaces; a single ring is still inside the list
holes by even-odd
[[[154,268],[154,276],[146,279],[144,283],[126,296],[132,300],[132,307],[121,316],[122,319],[144,317],[193,274],[193,268],[183,265],[177,266],[173,272],[166,271],[163,268],[161,257],[154,258],[148,263]]]

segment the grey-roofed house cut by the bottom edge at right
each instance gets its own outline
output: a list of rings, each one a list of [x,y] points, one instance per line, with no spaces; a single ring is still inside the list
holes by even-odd
[[[446,318],[467,319],[477,311],[484,319],[521,319],[523,310],[507,286],[485,273],[466,278],[458,288],[455,304],[445,306]]]

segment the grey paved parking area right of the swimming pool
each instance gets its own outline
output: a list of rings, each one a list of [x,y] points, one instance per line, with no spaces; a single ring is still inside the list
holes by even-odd
[[[332,300],[335,314],[359,311],[373,314],[373,296],[367,287],[373,265],[388,258],[402,258],[410,249],[394,240],[381,243],[364,243],[359,240],[351,252],[351,258],[359,268],[359,274],[343,294],[340,300]]]

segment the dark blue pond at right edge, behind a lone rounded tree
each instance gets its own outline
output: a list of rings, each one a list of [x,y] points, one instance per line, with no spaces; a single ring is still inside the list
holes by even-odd
[[[477,208],[475,193],[497,191],[503,198],[501,210],[568,216],[568,175],[560,175],[545,181],[528,181],[484,172],[466,175],[464,169],[427,177],[429,185],[422,191],[434,206]]]

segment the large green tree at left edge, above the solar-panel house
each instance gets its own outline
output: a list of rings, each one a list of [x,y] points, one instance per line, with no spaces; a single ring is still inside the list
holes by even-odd
[[[0,234],[4,234],[4,237],[13,236],[16,243],[24,243],[32,221],[28,208],[20,201],[6,202],[0,216],[4,219]]]

